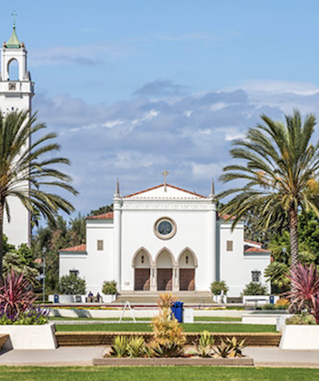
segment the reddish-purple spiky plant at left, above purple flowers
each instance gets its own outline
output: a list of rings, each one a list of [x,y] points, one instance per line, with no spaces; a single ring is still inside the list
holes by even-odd
[[[8,318],[15,319],[26,309],[31,308],[35,295],[24,273],[16,274],[12,269],[6,275],[4,286],[0,288],[0,305]]]

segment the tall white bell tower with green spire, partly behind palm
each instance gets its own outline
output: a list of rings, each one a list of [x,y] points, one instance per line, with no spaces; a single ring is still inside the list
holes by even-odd
[[[27,70],[27,51],[20,43],[14,26],[10,39],[1,49],[0,73],[0,111],[4,114],[12,111],[29,110],[34,96],[34,85]],[[11,221],[5,216],[4,232],[9,243],[16,247],[31,241],[31,216],[17,198],[9,200]]]

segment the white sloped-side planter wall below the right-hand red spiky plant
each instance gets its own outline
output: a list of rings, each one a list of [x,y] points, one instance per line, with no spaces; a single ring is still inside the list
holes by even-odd
[[[279,347],[281,349],[319,350],[319,325],[284,325]]]

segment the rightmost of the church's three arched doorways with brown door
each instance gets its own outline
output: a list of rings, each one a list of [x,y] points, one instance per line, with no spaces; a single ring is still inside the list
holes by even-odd
[[[195,290],[195,268],[197,259],[193,250],[184,249],[178,258],[179,289],[181,291]]]

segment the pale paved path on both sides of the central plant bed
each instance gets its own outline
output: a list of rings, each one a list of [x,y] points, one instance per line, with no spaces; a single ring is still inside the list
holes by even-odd
[[[91,366],[105,347],[59,347],[48,350],[0,351],[0,366]],[[255,366],[317,367],[319,351],[282,350],[278,347],[246,347],[244,354]]]

